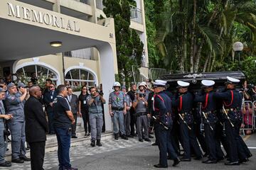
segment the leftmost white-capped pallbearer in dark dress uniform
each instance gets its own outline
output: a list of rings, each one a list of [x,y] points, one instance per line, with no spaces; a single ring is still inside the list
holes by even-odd
[[[167,152],[174,159],[173,166],[176,166],[180,159],[174,152],[171,145],[171,99],[164,94],[165,84],[154,82],[154,101],[153,101],[153,118],[155,119],[155,132],[158,137],[159,146],[159,164],[155,164],[156,168],[167,168]]]

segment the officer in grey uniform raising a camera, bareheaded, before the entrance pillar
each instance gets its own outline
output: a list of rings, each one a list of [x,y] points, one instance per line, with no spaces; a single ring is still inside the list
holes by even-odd
[[[95,86],[90,87],[90,96],[87,97],[87,103],[89,105],[89,122],[91,127],[91,146],[95,147],[95,140],[97,140],[96,145],[101,147],[100,143],[102,125],[103,125],[103,114],[102,114],[102,103],[106,103],[103,98],[103,94],[99,94]]]

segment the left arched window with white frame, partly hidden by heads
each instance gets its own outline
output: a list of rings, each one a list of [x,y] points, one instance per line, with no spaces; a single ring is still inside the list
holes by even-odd
[[[28,65],[25,67],[21,67],[17,70],[16,74],[20,77],[27,77],[28,80],[30,80],[34,74],[37,79],[51,79],[54,84],[56,84],[58,81],[57,74],[55,74],[53,70],[48,69],[48,67],[43,67],[41,65]]]

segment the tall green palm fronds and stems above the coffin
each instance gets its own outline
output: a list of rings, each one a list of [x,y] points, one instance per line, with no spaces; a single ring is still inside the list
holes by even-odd
[[[154,0],[153,15],[155,45],[166,67],[176,72],[227,69],[236,41],[245,45],[245,58],[256,55],[253,0]]]

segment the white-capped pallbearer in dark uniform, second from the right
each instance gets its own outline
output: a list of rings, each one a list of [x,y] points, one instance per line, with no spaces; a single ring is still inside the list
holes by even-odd
[[[208,159],[206,161],[203,161],[203,163],[216,164],[218,160],[223,159],[224,154],[220,148],[220,142],[218,142],[215,135],[216,123],[218,121],[215,112],[215,92],[213,91],[213,86],[215,82],[212,80],[202,80],[201,84],[203,85],[203,91],[200,91],[198,94],[196,94],[194,101],[202,103],[201,116],[203,117],[206,145],[209,153]]]

